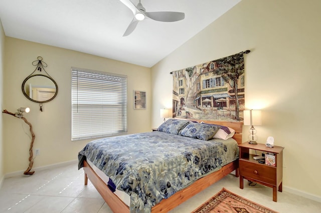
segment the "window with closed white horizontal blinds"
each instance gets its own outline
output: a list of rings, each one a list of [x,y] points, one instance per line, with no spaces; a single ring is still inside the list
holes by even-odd
[[[127,132],[127,76],[72,67],[71,139]]]

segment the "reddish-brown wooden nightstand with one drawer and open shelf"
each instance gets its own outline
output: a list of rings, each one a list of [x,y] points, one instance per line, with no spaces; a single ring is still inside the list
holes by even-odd
[[[281,146],[267,147],[263,143],[249,144],[248,142],[239,144],[240,157],[240,188],[243,188],[243,179],[266,185],[273,188],[273,201],[277,201],[277,191],[282,192],[282,166],[283,166],[283,149]],[[255,154],[250,153],[250,149],[262,152],[274,153],[275,165],[259,163],[253,159]]]

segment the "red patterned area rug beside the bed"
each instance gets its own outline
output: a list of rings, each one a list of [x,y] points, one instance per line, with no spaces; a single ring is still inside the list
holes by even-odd
[[[251,200],[245,199],[231,191],[222,188],[220,192],[211,197],[193,213],[217,213],[217,212],[236,212],[236,213],[277,213],[272,209],[259,205]]]

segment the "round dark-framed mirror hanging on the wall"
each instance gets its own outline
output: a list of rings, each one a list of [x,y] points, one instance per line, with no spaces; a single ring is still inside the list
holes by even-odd
[[[33,74],[26,77],[22,83],[22,91],[29,100],[44,103],[56,97],[58,85],[50,76]]]

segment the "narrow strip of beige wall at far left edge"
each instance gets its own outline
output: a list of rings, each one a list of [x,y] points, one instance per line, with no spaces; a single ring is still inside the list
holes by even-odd
[[[4,96],[4,61],[5,61],[5,32],[2,27],[2,22],[0,20],[0,109],[2,111],[4,101],[3,101],[3,96]],[[4,137],[3,137],[3,116],[0,116],[0,187],[1,183],[4,179]]]

